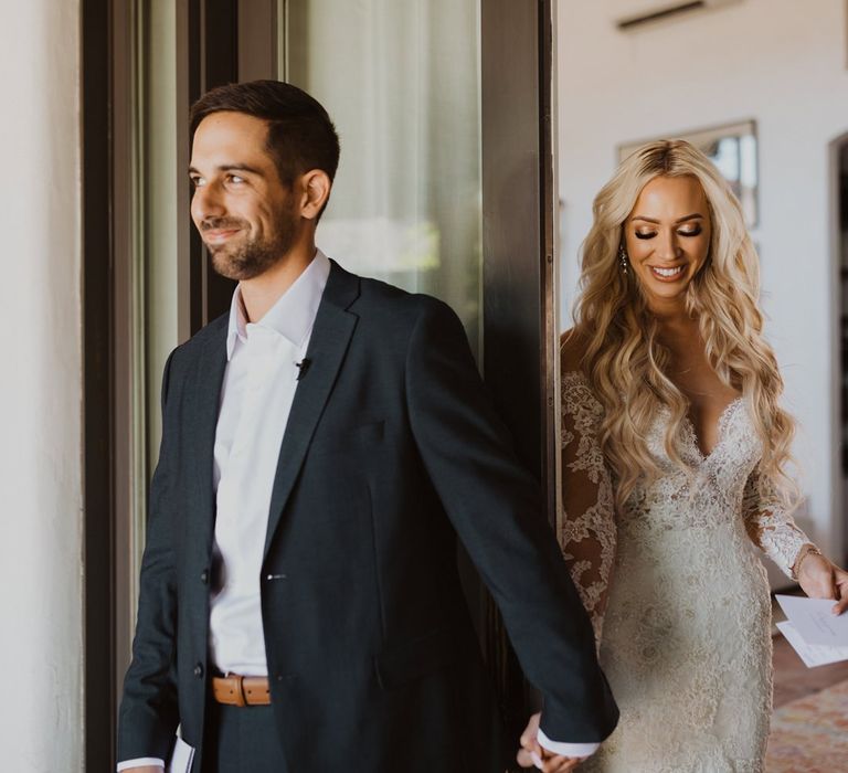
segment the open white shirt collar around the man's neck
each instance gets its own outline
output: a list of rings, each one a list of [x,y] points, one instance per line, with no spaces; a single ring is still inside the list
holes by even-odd
[[[317,250],[311,263],[256,325],[285,336],[297,347],[301,346],[312,329],[329,275],[330,261],[320,250]],[[247,339],[247,317],[242,303],[241,285],[235,288],[230,304],[230,327],[226,332],[227,361],[233,357],[236,338],[242,342]]]

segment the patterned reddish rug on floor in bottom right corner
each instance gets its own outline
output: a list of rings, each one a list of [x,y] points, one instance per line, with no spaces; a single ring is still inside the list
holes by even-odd
[[[848,680],[798,698],[774,712],[765,770],[848,771]]]

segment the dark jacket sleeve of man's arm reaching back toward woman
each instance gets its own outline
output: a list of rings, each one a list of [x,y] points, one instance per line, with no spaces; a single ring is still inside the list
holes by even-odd
[[[618,711],[589,617],[477,373],[462,324],[422,300],[406,395],[422,460],[459,539],[498,604],[524,674],[544,697],[541,727],[561,742],[602,741]]]

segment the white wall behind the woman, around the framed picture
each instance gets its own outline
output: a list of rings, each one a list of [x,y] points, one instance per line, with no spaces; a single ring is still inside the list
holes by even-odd
[[[838,554],[831,407],[828,145],[848,131],[844,0],[742,0],[738,6],[618,32],[611,3],[558,4],[562,327],[571,326],[580,243],[616,146],[754,118],[760,136],[760,226],[767,335],[802,425],[812,523]]]

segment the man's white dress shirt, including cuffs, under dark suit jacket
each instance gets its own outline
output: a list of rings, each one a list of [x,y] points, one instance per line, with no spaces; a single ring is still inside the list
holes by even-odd
[[[209,617],[210,658],[222,674],[267,676],[259,574],[271,493],[299,369],[330,262],[317,251],[309,266],[257,322],[248,322],[241,289],[230,306],[227,364],[215,427],[213,485],[215,539]],[[556,743],[539,731],[555,754],[585,756],[593,744]],[[127,760],[117,770],[161,765]]]

